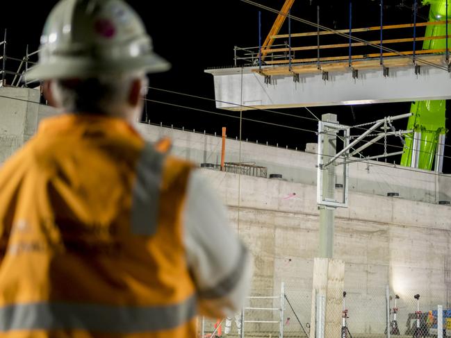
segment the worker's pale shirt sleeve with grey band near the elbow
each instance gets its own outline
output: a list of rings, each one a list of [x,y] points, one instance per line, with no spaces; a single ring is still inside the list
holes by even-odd
[[[243,305],[252,275],[249,251],[228,223],[226,208],[206,178],[193,171],[184,212],[188,265],[201,301],[223,314]]]

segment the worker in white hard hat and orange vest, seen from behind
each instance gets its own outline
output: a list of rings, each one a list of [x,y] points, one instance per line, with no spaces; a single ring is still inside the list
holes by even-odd
[[[122,0],[62,0],[28,81],[61,112],[0,171],[1,337],[195,337],[236,312],[247,249],[192,164],[142,139],[169,64]]]

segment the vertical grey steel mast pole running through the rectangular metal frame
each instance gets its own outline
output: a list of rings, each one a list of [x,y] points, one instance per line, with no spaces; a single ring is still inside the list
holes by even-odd
[[[322,121],[337,123],[335,114],[325,114]],[[329,130],[324,135],[322,146],[323,163],[329,160],[329,156],[336,154],[336,136],[333,130]],[[323,198],[334,199],[335,191],[335,164],[329,165],[322,175],[322,196]],[[319,183],[318,183],[319,184]],[[320,257],[332,258],[334,255],[334,217],[335,209],[320,207]]]

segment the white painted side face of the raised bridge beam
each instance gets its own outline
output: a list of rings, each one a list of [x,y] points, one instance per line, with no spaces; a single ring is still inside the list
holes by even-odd
[[[416,75],[413,67],[390,68],[388,76],[382,69],[329,72],[329,80],[322,74],[300,74],[300,82],[292,76],[272,76],[266,84],[264,76],[252,68],[213,69],[217,108],[296,108],[321,105],[356,105],[451,99],[451,76],[448,71],[422,66]]]

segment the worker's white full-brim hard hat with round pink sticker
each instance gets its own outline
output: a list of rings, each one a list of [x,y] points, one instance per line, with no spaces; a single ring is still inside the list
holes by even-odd
[[[26,81],[88,78],[142,71],[170,63],[153,51],[138,14],[122,0],[60,0],[41,36],[39,62]]]

